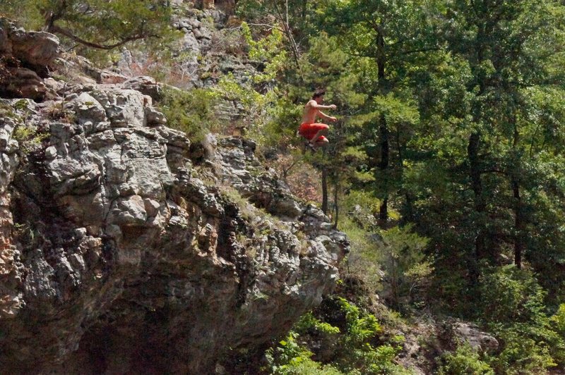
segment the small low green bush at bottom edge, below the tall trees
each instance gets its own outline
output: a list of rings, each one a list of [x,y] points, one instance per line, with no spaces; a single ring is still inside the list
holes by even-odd
[[[442,362],[439,375],[494,375],[493,369],[470,345],[458,346],[456,352],[444,355]]]

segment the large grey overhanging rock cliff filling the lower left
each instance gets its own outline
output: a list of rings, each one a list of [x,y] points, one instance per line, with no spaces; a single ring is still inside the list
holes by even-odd
[[[143,82],[0,99],[4,369],[206,374],[333,288],[345,235],[253,142],[190,147]]]

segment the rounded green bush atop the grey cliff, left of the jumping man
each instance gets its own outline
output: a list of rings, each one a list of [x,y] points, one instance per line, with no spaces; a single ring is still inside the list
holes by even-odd
[[[219,126],[215,113],[217,103],[218,97],[211,90],[168,88],[163,90],[157,106],[167,117],[169,127],[183,131],[193,142],[198,142]]]

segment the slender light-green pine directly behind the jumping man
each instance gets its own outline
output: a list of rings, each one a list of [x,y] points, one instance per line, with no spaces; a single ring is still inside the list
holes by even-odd
[[[273,120],[276,126],[270,128],[271,132],[278,134],[279,139],[281,135],[292,132],[292,137],[283,138],[285,142],[279,145],[281,148],[287,147],[289,140],[294,140],[295,144],[302,142],[302,139],[295,137],[295,133],[304,104],[316,88],[326,88],[325,100],[338,106],[338,113],[334,114],[339,121],[330,124],[328,147],[306,157],[321,171],[322,210],[326,214],[329,213],[333,187],[334,221],[339,212],[341,190],[355,178],[356,166],[360,159],[364,159],[356,139],[359,129],[350,123],[350,116],[364,104],[367,96],[357,92],[359,76],[350,68],[350,61],[350,56],[340,49],[336,38],[328,37],[325,32],[312,37],[309,48],[300,56],[300,68],[287,68],[286,74],[279,80],[279,87],[285,96],[285,102],[281,104],[292,109],[294,118],[287,116],[290,112],[288,108],[286,111],[278,109],[273,112],[278,114]],[[292,125],[289,127],[288,123]],[[334,226],[337,226],[337,221]]]

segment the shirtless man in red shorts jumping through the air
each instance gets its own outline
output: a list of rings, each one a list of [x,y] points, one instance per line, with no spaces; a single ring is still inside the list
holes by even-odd
[[[335,104],[323,106],[323,95],[326,94],[324,90],[316,90],[312,99],[304,106],[304,115],[302,116],[302,124],[298,129],[298,134],[308,140],[309,147],[316,149],[328,145],[329,126],[325,123],[316,123],[316,117],[321,117],[329,121],[338,121],[337,118],[326,115],[320,109],[335,109]]]

